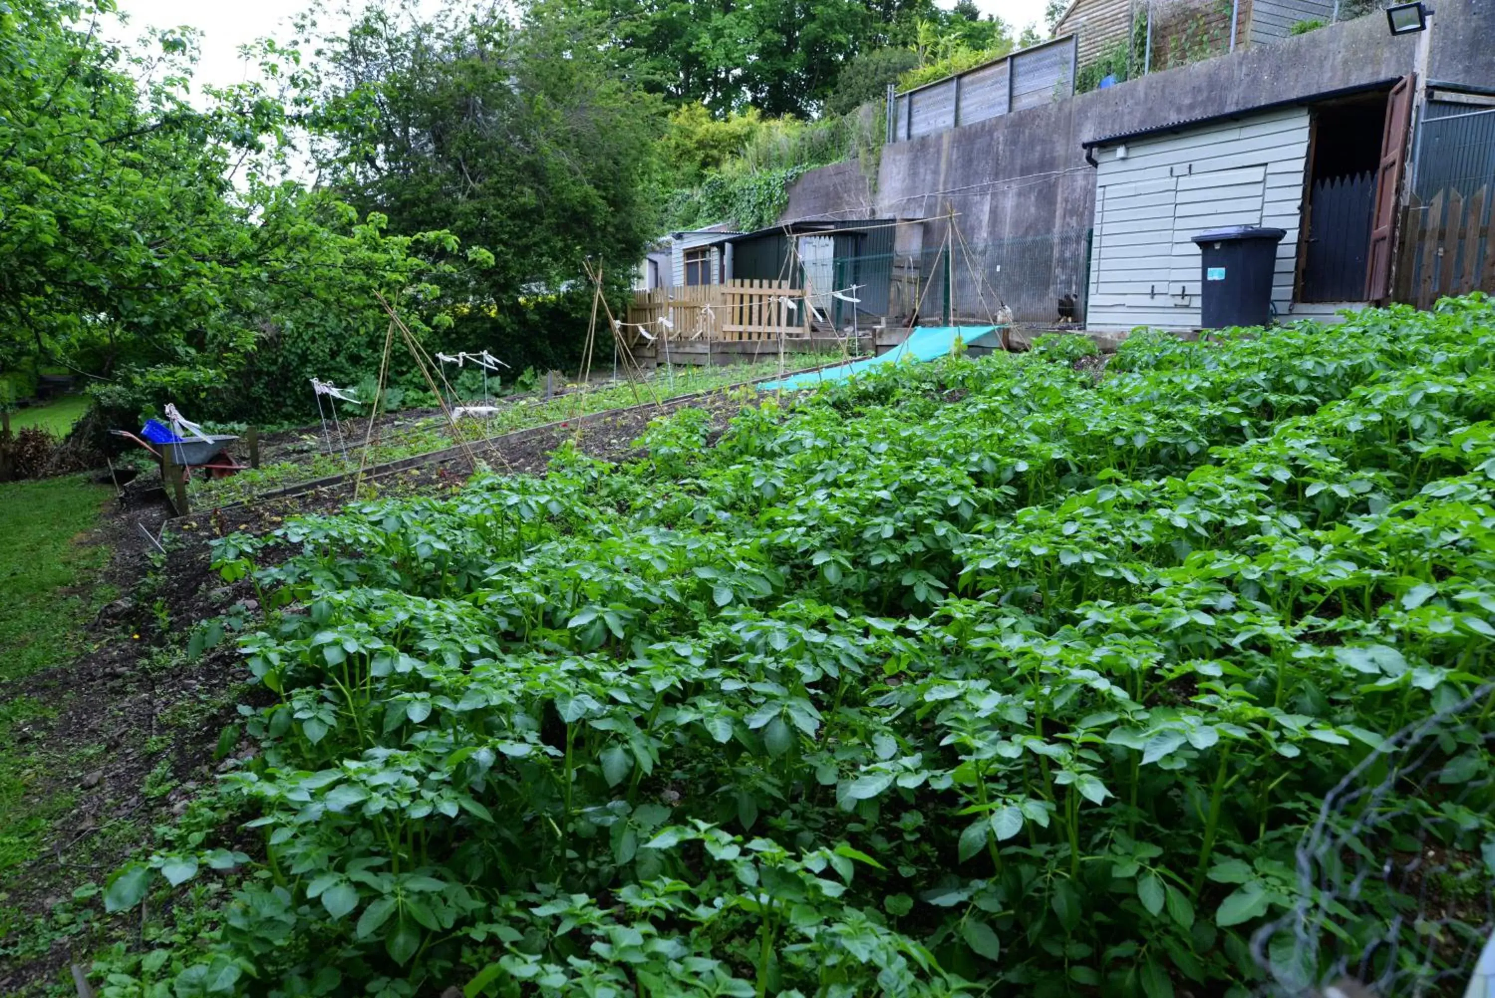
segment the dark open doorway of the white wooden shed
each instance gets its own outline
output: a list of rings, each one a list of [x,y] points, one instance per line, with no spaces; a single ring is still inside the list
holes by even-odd
[[[1316,105],[1310,114],[1298,301],[1365,301],[1386,93]]]

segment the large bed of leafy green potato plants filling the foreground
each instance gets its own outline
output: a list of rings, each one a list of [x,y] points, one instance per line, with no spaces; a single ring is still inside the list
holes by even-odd
[[[224,778],[265,865],[141,980],[1247,994],[1323,795],[1491,675],[1495,308],[1139,332],[1099,383],[1069,353],[221,542],[269,607],[263,753]],[[1353,826],[1363,862],[1495,842],[1489,783],[1453,793],[1489,709]],[[161,853],[106,901],[244,862]],[[1325,961],[1416,905],[1360,892]]]

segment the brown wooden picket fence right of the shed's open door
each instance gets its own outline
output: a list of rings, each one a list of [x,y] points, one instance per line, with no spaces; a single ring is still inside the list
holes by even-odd
[[[1444,295],[1495,293],[1495,196],[1446,189],[1407,203],[1396,301],[1431,308]]]

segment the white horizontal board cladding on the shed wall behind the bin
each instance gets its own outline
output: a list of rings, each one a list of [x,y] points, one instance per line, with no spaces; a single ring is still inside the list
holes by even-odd
[[[1293,295],[1308,111],[1133,139],[1096,150],[1096,223],[1088,323],[1096,329],[1199,326],[1199,247],[1190,236],[1233,224],[1286,229],[1272,302]]]

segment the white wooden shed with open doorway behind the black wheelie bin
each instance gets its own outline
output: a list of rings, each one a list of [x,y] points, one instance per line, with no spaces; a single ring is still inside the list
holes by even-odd
[[[1197,329],[1200,254],[1192,236],[1266,226],[1277,247],[1272,307],[1334,317],[1375,298],[1369,280],[1387,88],[1244,111],[1087,142],[1096,163],[1091,329]],[[1386,205],[1395,208],[1395,202]]]

